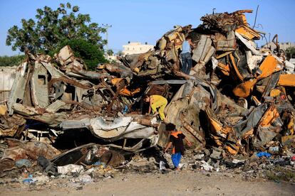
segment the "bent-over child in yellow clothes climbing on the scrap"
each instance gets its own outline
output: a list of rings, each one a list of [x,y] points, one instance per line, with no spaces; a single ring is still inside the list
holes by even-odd
[[[150,107],[148,108],[148,114],[150,114],[150,111],[152,110],[152,113],[154,116],[159,114],[160,119],[162,121],[165,121],[165,114],[164,109],[167,106],[167,99],[165,97],[162,97],[161,95],[145,95],[144,97],[145,102],[150,103]]]

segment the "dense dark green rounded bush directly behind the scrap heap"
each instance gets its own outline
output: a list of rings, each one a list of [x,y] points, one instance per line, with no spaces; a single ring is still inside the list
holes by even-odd
[[[88,70],[95,70],[98,63],[108,62],[103,55],[103,51],[100,50],[98,45],[93,45],[89,41],[83,39],[65,40],[60,44],[60,47],[54,50],[54,53],[58,53],[58,51],[65,45],[70,45],[75,53],[75,56],[84,60]],[[49,54],[53,55],[53,53]]]

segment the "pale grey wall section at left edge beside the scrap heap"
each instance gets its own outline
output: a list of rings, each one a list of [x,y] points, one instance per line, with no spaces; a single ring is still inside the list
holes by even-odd
[[[0,102],[8,99],[16,77],[16,67],[0,67]]]

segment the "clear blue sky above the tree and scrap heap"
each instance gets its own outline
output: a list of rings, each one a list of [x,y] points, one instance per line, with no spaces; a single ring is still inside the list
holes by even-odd
[[[5,44],[11,26],[20,26],[21,18],[35,18],[38,8],[50,6],[56,9],[61,2],[79,6],[80,13],[89,13],[92,22],[111,24],[109,48],[115,52],[123,50],[122,45],[129,40],[155,45],[162,34],[177,24],[196,27],[200,24],[200,17],[212,13],[213,8],[215,12],[253,9],[254,13],[247,13],[248,23],[253,25],[257,5],[257,24],[263,26],[257,29],[271,33],[271,38],[279,34],[280,42],[295,41],[295,0],[0,0],[0,55],[19,53]]]

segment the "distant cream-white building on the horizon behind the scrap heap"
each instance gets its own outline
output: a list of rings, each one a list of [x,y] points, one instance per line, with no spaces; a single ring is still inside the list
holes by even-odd
[[[123,45],[124,50],[123,55],[133,55],[146,53],[148,50],[153,50],[153,45],[148,45],[148,43],[141,44],[140,42],[129,42],[128,45]]]

